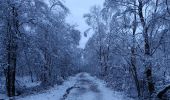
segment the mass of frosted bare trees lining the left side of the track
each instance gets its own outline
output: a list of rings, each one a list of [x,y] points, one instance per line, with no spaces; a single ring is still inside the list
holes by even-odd
[[[17,77],[46,87],[78,71],[80,32],[65,22],[68,13],[59,0],[0,1],[0,70],[9,97],[18,91]]]

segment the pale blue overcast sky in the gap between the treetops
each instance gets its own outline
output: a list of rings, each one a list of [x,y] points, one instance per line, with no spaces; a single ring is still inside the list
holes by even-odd
[[[66,6],[70,9],[70,15],[67,17],[67,22],[70,24],[78,25],[77,29],[81,31],[82,38],[80,47],[84,48],[90,35],[85,38],[83,32],[88,28],[83,15],[88,13],[90,8],[94,5],[103,5],[104,0],[65,0]]]

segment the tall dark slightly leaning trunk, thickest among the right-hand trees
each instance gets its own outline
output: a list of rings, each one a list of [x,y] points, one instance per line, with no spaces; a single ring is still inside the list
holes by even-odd
[[[149,44],[149,35],[148,35],[148,27],[146,25],[144,16],[143,16],[143,2],[142,0],[138,0],[138,13],[140,17],[140,21],[143,27],[143,37],[144,37],[144,49],[145,49],[145,74],[147,80],[147,87],[149,96],[151,98],[153,92],[155,91],[153,79],[152,79],[152,62],[151,62],[151,51],[150,51],[150,44]]]

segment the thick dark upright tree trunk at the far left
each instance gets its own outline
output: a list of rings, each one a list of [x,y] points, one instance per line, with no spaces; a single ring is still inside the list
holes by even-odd
[[[17,34],[19,23],[17,20],[18,13],[15,7],[12,8],[12,15],[9,14],[7,22],[7,74],[6,88],[9,97],[15,96],[15,76],[16,76],[16,61],[17,61]]]

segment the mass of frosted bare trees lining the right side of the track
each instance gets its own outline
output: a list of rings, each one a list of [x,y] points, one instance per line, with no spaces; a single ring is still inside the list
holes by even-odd
[[[130,96],[163,98],[168,87],[159,93],[160,87],[170,84],[169,6],[168,0],[105,0],[103,8],[92,7],[84,16],[94,31],[84,66]]]

